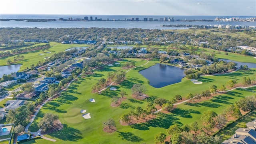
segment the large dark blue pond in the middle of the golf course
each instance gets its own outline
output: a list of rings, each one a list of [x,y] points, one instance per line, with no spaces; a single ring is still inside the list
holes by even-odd
[[[156,64],[142,70],[139,73],[150,81],[150,85],[154,88],[162,88],[170,84],[181,82],[185,77],[185,69],[167,64]]]

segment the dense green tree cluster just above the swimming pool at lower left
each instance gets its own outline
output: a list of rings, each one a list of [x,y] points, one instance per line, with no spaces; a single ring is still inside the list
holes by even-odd
[[[6,122],[26,126],[26,124],[28,124],[29,115],[32,114],[34,108],[35,105],[33,103],[28,103],[17,109],[10,109],[6,116]]]

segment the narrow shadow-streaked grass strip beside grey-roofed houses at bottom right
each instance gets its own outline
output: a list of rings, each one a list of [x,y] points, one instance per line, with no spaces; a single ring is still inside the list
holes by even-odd
[[[227,128],[225,128],[218,136],[221,136],[223,141],[231,138],[233,134],[235,134],[235,131],[238,128],[244,128],[246,126],[247,122],[251,122],[255,120],[256,118],[256,110],[253,112],[250,112],[245,117],[241,118],[237,122],[234,122],[233,124],[230,124]]]

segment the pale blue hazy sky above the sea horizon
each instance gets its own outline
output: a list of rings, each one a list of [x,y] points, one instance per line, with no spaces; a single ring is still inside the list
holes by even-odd
[[[256,0],[2,0],[0,14],[256,17]]]

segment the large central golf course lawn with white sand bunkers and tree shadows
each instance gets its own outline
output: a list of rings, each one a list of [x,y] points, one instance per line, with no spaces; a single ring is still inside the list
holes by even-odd
[[[135,107],[141,106],[144,108],[146,102],[153,101],[157,97],[170,99],[176,94],[185,97],[188,93],[195,94],[196,92],[202,92],[209,89],[211,84],[220,86],[226,85],[226,82],[230,79],[237,79],[240,81],[242,76],[250,76],[255,74],[256,70],[250,71],[237,71],[230,75],[225,74],[221,76],[205,76],[198,80],[203,84],[193,84],[190,80],[183,78],[182,82],[172,84],[163,88],[153,88],[148,84],[148,80],[138,73],[139,70],[148,68],[159,62],[159,60],[151,60],[145,66],[135,68],[127,72],[126,80],[121,84],[114,86],[118,90],[112,91],[104,90],[102,94],[96,94],[91,92],[92,86],[100,78],[106,78],[106,75],[110,71],[120,69],[120,67],[127,61],[135,61],[136,66],[146,63],[146,60],[127,58],[123,61],[118,61],[120,65],[105,66],[104,69],[96,70],[94,74],[87,76],[86,78],[78,78],[74,81],[68,90],[62,92],[59,98],[48,102],[40,110],[33,124],[29,130],[31,132],[37,131],[36,126],[42,119],[45,113],[51,112],[60,116],[60,122],[64,124],[64,128],[58,132],[53,132],[46,135],[46,137],[56,139],[54,143],[90,143],[90,144],[106,144],[106,143],[122,143],[122,144],[140,144],[142,142],[152,143],[154,135],[159,132],[165,132],[172,124],[191,124],[194,121],[200,123],[200,117],[205,110],[214,110],[220,114],[228,104],[233,104],[239,98],[245,96],[251,96],[253,92],[239,89],[228,94],[222,94],[218,97],[214,97],[208,101],[200,102],[197,104],[181,104],[178,105],[176,110],[170,114],[159,113],[158,117],[154,120],[150,120],[144,124],[135,124],[132,126],[122,126],[119,123],[119,118],[122,114],[128,113],[134,110]],[[132,98],[131,88],[133,84],[144,84],[148,88],[147,94],[150,96],[148,100],[135,100]],[[120,96],[120,91],[124,90],[127,95],[127,99],[124,100],[120,107],[112,107],[111,97]],[[90,98],[95,99],[95,103],[89,102]],[[90,119],[84,119],[80,110],[87,110],[86,113],[90,113]],[[113,118],[116,122],[117,132],[106,133],[104,132],[102,122],[108,118]],[[200,127],[202,125],[200,124]],[[46,140],[35,140],[35,142],[52,143]]]

